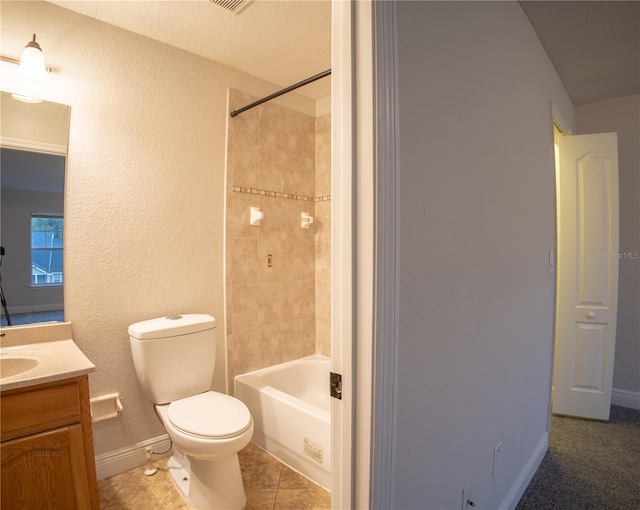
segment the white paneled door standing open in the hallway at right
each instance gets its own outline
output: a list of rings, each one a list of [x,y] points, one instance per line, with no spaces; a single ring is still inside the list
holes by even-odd
[[[609,419],[618,301],[615,133],[559,143],[553,412]]]

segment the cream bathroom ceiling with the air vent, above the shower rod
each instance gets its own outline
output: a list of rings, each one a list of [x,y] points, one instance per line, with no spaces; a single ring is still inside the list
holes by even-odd
[[[51,3],[274,83],[274,92],[331,68],[330,0],[253,0],[238,13],[209,0]],[[323,78],[297,90],[319,99]]]

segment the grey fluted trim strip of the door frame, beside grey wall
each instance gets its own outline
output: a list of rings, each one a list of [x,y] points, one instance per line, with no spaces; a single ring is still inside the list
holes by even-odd
[[[392,508],[399,314],[397,25],[394,2],[374,2],[375,295],[370,508]]]

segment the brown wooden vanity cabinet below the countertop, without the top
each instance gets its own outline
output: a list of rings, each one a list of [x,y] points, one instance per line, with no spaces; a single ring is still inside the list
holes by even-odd
[[[88,376],[2,392],[3,510],[99,510]]]

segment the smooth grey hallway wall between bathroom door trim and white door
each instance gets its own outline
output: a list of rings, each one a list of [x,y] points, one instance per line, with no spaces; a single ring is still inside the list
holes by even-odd
[[[570,124],[574,108],[517,3],[395,5],[392,507],[460,508],[473,482],[477,506],[499,508],[516,497],[546,445],[555,245],[549,101]]]

